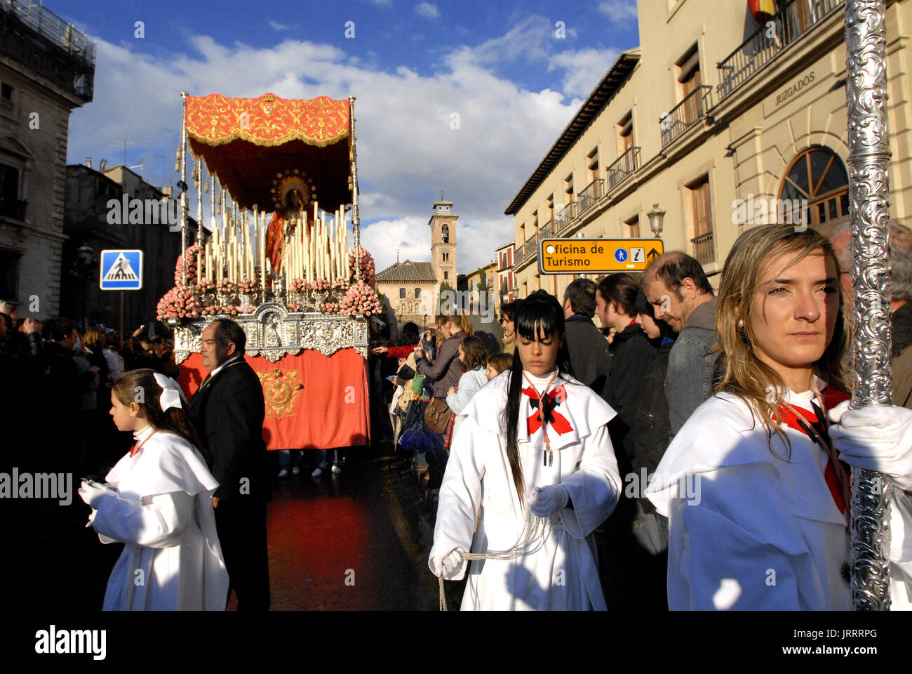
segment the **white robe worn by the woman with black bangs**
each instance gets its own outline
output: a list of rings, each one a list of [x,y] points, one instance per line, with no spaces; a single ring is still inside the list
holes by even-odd
[[[551,377],[526,374],[539,393]],[[440,485],[431,558],[447,556],[457,548],[499,552],[513,547],[523,536],[527,507],[519,502],[513,486],[500,419],[510,376],[508,371],[492,379],[462,410],[465,418],[453,436]],[[617,460],[606,427],[615,412],[571,377],[559,376],[549,391],[561,384],[566,399],[555,411],[565,416],[573,430],[558,435],[548,425],[552,465],[543,465],[542,429],[529,437],[526,419],[534,409],[525,395],[518,445],[526,498],[536,486],[561,484],[573,508],[545,521],[543,538],[522,557],[473,561],[462,610],[606,608],[591,534],[614,510],[620,493]],[[523,382],[523,388],[527,386]],[[481,519],[472,535],[479,506]],[[467,565],[463,559],[453,580],[463,577]]]

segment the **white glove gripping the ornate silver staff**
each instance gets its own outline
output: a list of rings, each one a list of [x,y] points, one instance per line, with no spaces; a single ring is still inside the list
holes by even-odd
[[[848,401],[830,410],[836,422],[830,438],[839,458],[854,468],[876,470],[912,490],[912,410],[896,405],[849,409]]]

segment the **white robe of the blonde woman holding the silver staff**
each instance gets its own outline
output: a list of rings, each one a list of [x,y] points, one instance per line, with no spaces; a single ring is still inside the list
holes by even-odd
[[[786,400],[814,414],[807,397],[790,391]],[[824,479],[827,455],[802,432],[783,429],[791,454],[775,434],[771,451],[748,405],[719,394],[668,446],[647,490],[669,519],[668,608],[852,608],[842,574],[851,540]],[[912,584],[903,575],[912,577],[912,542],[904,530],[912,532],[912,520],[896,505],[895,495],[891,591],[893,607],[908,608]]]

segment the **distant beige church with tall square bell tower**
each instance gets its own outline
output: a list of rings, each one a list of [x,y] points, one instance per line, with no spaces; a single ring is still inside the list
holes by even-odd
[[[441,283],[456,290],[456,220],[451,201],[434,202],[428,221],[430,262],[407,259],[377,274],[377,293],[387,300],[394,316],[389,317],[401,330],[412,321],[423,328],[435,321],[434,296]]]

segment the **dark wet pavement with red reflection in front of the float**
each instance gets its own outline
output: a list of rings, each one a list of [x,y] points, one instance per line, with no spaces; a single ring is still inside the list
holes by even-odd
[[[417,490],[397,463],[310,471],[279,479],[268,506],[273,610],[436,609],[436,579],[400,504]]]

